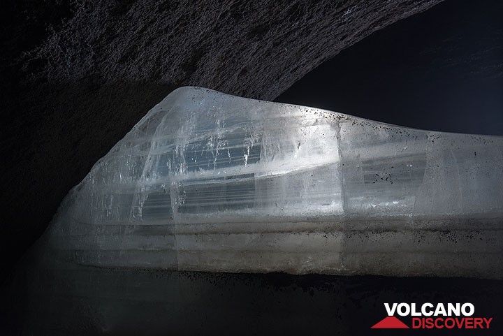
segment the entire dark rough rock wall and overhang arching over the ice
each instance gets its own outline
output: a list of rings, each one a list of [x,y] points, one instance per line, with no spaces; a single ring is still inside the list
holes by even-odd
[[[343,48],[439,1],[9,1],[2,258],[15,261],[67,191],[175,87],[271,100]]]

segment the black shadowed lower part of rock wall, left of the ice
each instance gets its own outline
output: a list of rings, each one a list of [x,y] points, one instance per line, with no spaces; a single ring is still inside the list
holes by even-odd
[[[1,149],[8,159],[0,169],[0,261],[17,261],[47,227],[68,190],[78,184],[138,122],[138,111],[154,106],[171,85],[116,80],[103,84],[94,78],[75,83],[41,85],[24,93],[8,127]],[[136,99],[131,100],[131,96]],[[103,113],[103,111],[107,111]],[[5,125],[4,125],[5,126]],[[78,180],[78,181],[77,181]]]

